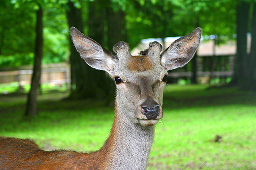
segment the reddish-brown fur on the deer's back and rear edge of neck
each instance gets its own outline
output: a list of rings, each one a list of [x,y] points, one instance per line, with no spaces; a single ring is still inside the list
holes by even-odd
[[[44,151],[28,139],[0,137],[0,170],[104,170],[107,160],[111,159],[114,137],[112,133],[105,144],[92,153]]]

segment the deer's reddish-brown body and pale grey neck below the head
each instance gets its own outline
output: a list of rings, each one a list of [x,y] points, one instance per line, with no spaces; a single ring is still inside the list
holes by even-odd
[[[105,144],[92,153],[44,151],[30,140],[0,138],[0,169],[145,170],[154,138],[154,127],[141,129],[140,126],[131,127],[126,123],[122,127],[116,127],[116,120]],[[4,154],[10,151],[13,154]]]

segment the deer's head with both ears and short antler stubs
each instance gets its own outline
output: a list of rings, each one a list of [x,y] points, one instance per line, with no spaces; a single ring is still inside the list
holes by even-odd
[[[96,41],[72,27],[75,48],[93,68],[106,71],[117,87],[116,114],[142,126],[154,126],[163,116],[162,96],[168,70],[182,67],[193,57],[201,38],[201,29],[174,41],[165,51],[158,42],[138,56],[131,56],[128,43],[115,44],[112,55]]]

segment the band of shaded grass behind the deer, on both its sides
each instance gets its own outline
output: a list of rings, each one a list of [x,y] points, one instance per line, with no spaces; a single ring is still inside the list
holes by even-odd
[[[67,92],[38,94],[38,112],[86,111],[106,107],[105,100],[64,100]],[[6,117],[21,117],[25,112],[27,94],[0,95],[0,121]],[[114,103],[114,102],[113,102]],[[239,91],[235,87],[208,88],[206,85],[169,85],[164,92],[163,109],[209,107],[222,105],[256,105],[256,92]]]

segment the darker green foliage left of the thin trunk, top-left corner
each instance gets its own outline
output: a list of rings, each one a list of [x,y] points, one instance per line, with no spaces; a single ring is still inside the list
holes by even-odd
[[[0,55],[28,54],[33,51],[34,10],[24,3],[19,9],[5,1],[0,3]]]

